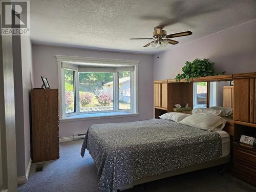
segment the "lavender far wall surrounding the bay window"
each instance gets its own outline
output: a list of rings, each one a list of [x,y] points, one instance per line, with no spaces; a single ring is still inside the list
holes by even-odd
[[[60,122],[60,137],[85,133],[88,127],[97,123],[129,122],[153,117],[153,56],[135,53],[95,51],[65,47],[33,45],[34,86],[41,87],[40,76],[48,78],[51,88],[58,88],[57,61],[55,55],[96,57],[109,59],[140,60],[139,63],[139,116]]]

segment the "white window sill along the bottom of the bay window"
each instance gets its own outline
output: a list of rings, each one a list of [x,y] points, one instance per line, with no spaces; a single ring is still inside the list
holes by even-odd
[[[135,117],[135,116],[139,116],[139,114],[129,113],[129,112],[91,113],[91,114],[81,114],[81,115],[74,115],[71,117],[65,117],[65,118],[59,119],[59,122],[107,119],[107,118],[118,118],[118,117]]]

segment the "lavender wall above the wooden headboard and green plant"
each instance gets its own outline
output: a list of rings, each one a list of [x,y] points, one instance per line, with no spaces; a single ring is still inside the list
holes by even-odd
[[[187,60],[209,58],[215,71],[227,74],[256,72],[256,19],[188,42],[154,57],[154,80],[175,78]],[[176,40],[179,40],[177,38]],[[182,41],[182,37],[180,37]]]

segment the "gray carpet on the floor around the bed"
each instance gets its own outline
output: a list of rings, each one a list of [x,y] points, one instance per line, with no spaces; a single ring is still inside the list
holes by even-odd
[[[35,173],[32,164],[28,183],[20,185],[18,191],[98,191],[99,176],[97,168],[86,152],[85,158],[80,156],[82,141],[60,143],[60,158],[45,163],[42,172]],[[256,191],[256,188],[239,180],[229,172],[218,175],[220,167],[212,167],[197,172],[146,183],[147,192],[173,191]],[[142,185],[135,186],[125,192],[142,192]]]

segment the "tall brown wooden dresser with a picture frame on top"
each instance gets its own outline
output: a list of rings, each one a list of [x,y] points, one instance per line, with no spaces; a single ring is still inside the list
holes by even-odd
[[[32,162],[59,158],[58,90],[31,90]]]

